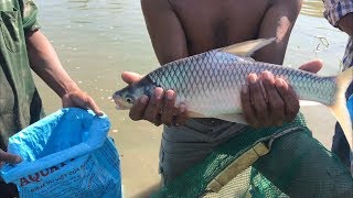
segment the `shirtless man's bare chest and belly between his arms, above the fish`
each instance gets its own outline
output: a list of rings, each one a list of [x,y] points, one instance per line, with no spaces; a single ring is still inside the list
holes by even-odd
[[[257,38],[270,0],[170,0],[170,4],[192,55]]]

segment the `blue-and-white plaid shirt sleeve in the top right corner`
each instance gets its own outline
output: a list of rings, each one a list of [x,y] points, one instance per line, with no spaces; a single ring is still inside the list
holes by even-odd
[[[335,28],[345,14],[353,12],[353,0],[323,0],[325,11],[324,18]]]

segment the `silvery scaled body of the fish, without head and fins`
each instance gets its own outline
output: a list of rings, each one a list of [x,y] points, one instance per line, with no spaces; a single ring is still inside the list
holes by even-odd
[[[227,53],[211,51],[192,59],[180,59],[164,65],[148,75],[163,89],[176,91],[176,103],[190,107],[191,111],[205,116],[240,112],[239,90],[246,85],[246,77],[269,70],[292,86],[299,99],[332,105],[335,94],[335,78],[320,77],[311,73],[274,64],[236,57]],[[216,106],[210,106],[216,103]]]

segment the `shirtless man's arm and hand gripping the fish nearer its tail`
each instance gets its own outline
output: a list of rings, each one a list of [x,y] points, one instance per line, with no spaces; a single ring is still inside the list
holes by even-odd
[[[254,55],[256,61],[282,64],[301,3],[301,0],[275,0],[268,8],[258,37],[277,40],[258,51]],[[299,111],[299,101],[291,87],[268,72],[260,76],[250,74],[248,87],[243,87],[240,96],[245,119],[253,127],[280,125],[284,121],[292,121]]]

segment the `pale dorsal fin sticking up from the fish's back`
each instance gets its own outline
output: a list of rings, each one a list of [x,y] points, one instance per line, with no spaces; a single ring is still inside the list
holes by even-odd
[[[248,57],[252,56],[256,51],[263,48],[268,44],[271,44],[275,41],[276,37],[246,41],[243,43],[237,43],[234,45],[223,47],[221,48],[221,52]]]

